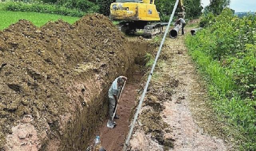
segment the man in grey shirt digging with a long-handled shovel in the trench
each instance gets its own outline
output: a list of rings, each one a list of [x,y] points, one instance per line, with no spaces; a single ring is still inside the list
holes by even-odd
[[[115,108],[117,107],[117,101],[118,98],[120,97],[120,93],[121,93],[121,87],[123,87],[123,81],[126,81],[127,77],[125,76],[119,76],[117,77],[111,87],[109,88],[109,93],[108,93],[108,97],[109,97],[109,120],[107,122],[107,126],[115,126],[115,122],[112,121],[113,118],[113,114],[115,112]],[[114,116],[115,119],[119,119],[119,116],[117,114],[115,114]],[[112,123],[113,122],[113,123]]]

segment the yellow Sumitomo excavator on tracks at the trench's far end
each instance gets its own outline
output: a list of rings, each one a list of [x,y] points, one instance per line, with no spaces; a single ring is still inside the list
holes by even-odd
[[[179,1],[179,17],[185,18],[183,0]],[[110,5],[110,19],[121,21],[117,29],[124,33],[135,33],[136,29],[143,29],[143,36],[152,38],[163,33],[163,27],[168,23],[160,21],[155,0],[116,0]]]

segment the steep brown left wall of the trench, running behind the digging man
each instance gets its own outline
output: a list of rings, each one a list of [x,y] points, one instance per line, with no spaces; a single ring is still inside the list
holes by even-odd
[[[143,64],[145,62],[144,56],[147,52],[152,52],[153,46],[149,43],[139,40],[138,42],[129,43],[126,51],[131,51],[129,59],[127,55],[120,54],[122,61],[113,66],[109,74],[105,77],[104,83],[97,85],[97,81],[85,82],[84,84],[93,83],[95,86],[88,96],[92,96],[86,108],[79,111],[71,118],[67,124],[64,137],[62,139],[62,150],[84,150],[87,148],[89,140],[94,137],[95,130],[101,126],[105,118],[108,116],[108,100],[107,93],[112,81],[119,75],[129,77],[133,74],[133,65],[135,62]],[[93,78],[91,78],[93,79]],[[74,87],[73,87],[74,88]],[[75,87],[77,88],[77,87]],[[81,88],[77,88],[80,91]],[[81,95],[81,93],[80,93]],[[87,99],[87,95],[83,99]],[[74,98],[74,97],[73,97]],[[78,99],[78,98],[77,98]]]

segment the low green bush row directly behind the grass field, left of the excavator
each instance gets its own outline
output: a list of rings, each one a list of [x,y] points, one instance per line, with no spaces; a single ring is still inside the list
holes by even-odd
[[[22,2],[8,2],[6,10],[14,12],[38,12],[58,15],[69,15],[74,17],[82,17],[85,12],[77,9],[69,9],[63,6],[55,6],[50,4],[29,4]]]

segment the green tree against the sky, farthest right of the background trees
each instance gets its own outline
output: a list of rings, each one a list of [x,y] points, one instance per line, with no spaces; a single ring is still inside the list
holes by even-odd
[[[229,4],[230,0],[210,0],[210,5],[207,8],[214,15],[219,15]]]

